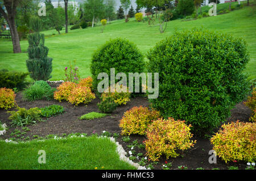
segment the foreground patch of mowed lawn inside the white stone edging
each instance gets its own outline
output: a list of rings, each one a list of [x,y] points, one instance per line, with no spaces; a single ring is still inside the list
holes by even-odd
[[[108,138],[96,136],[49,139],[44,142],[34,140],[19,144],[0,141],[0,169],[136,169],[120,161],[115,149],[116,145]],[[45,164],[38,163],[39,150],[46,151]]]

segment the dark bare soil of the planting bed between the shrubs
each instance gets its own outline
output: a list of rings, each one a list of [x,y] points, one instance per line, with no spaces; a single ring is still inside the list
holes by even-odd
[[[55,85],[56,86],[56,85]],[[137,97],[131,99],[129,103],[124,106],[120,106],[117,110],[109,116],[103,117],[101,119],[94,120],[79,120],[79,117],[84,115],[85,113],[89,113],[92,111],[98,112],[97,103],[100,102],[100,99],[94,99],[90,104],[84,106],[74,107],[72,104],[67,102],[57,102],[56,100],[37,100],[34,102],[25,102],[22,100],[22,92],[18,92],[15,98],[19,107],[24,108],[32,108],[32,107],[45,107],[51,104],[59,104],[65,108],[65,112],[62,115],[56,117],[50,117],[46,122],[40,122],[36,125],[28,125],[27,127],[31,129],[31,131],[24,134],[24,137],[30,136],[32,138],[34,135],[38,135],[39,137],[45,137],[48,134],[55,134],[62,136],[63,133],[87,133],[88,135],[96,132],[97,134],[101,134],[102,131],[108,131],[110,133],[121,133],[121,129],[119,128],[119,120],[122,118],[123,113],[134,106],[148,106],[149,102],[147,98]],[[14,108],[11,109],[15,110]],[[235,108],[231,111],[232,116],[227,119],[227,122],[230,121],[248,121],[250,117],[250,109],[244,106],[243,103],[239,103]],[[14,132],[14,129],[10,127],[10,120],[8,119],[10,115],[6,110],[0,110],[0,120],[2,123],[6,123],[9,128],[7,133],[3,136],[0,136],[0,139],[11,138],[14,136],[10,136],[11,132]],[[130,136],[131,141],[124,142],[122,141],[122,136],[117,138],[117,141],[122,144],[123,148],[128,151],[127,145],[131,145],[134,140],[138,140],[139,144],[142,143],[143,140],[146,139],[144,136]],[[182,156],[177,158],[170,158],[167,162],[172,163],[171,169],[177,169],[178,166],[187,166],[188,169],[197,169],[199,167],[203,167],[204,169],[228,169],[228,166],[237,166],[239,169],[245,169],[246,163],[228,163],[221,161],[220,158],[217,158],[216,164],[210,164],[208,159],[210,157],[209,150],[212,150],[212,145],[210,145],[209,138],[200,138],[194,136],[197,140],[197,143],[192,149],[186,150]],[[144,149],[135,148],[136,153],[146,154]],[[144,156],[143,156],[144,157]],[[155,169],[162,169],[162,165],[166,159],[162,158],[159,160],[158,164],[154,165]],[[134,161],[138,162],[138,161]]]

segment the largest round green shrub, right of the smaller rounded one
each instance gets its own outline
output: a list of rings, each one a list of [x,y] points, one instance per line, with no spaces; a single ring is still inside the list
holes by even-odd
[[[242,39],[197,29],[175,32],[147,57],[148,72],[159,73],[159,97],[152,106],[197,132],[220,125],[246,96],[242,71],[249,56]]]

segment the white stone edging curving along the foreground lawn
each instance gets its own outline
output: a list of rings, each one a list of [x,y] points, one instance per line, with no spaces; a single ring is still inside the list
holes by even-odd
[[[68,137],[68,138],[72,138],[72,137],[83,137],[83,138],[86,138],[84,135],[81,135],[81,136],[72,135],[72,136],[70,136],[70,137]],[[118,153],[118,155],[119,155],[119,159],[120,159],[121,161],[125,161],[125,162],[129,163],[130,165],[136,167],[137,170],[150,170],[150,168],[147,169],[147,168],[144,167],[144,166],[140,166],[139,163],[134,163],[134,162],[131,161],[129,158],[127,158],[127,157],[126,157],[126,154],[127,154],[127,153],[126,153],[125,150],[123,149],[123,146],[120,145],[119,142],[116,142],[114,137],[100,136],[100,137],[98,137],[98,138],[108,138],[110,141],[114,142],[115,145],[117,145],[116,151],[117,151],[117,153]],[[67,138],[62,138],[62,137],[57,137],[57,136],[55,136],[53,139],[54,139],[54,140],[59,140],[59,139],[67,139]],[[38,140],[38,141],[45,141],[45,140]],[[8,140],[8,139],[6,139],[5,142],[7,142],[7,143],[10,142],[10,143],[13,143],[13,144],[18,144],[18,142],[13,141],[13,140]],[[26,141],[26,142],[29,142],[29,141]],[[21,143],[24,143],[24,141],[22,141]]]

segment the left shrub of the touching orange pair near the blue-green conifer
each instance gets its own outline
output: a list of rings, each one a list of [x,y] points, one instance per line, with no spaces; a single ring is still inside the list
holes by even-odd
[[[67,100],[68,97],[71,94],[71,91],[75,89],[76,83],[73,82],[63,82],[59,87],[57,87],[57,90],[54,92],[54,99],[59,100]]]

